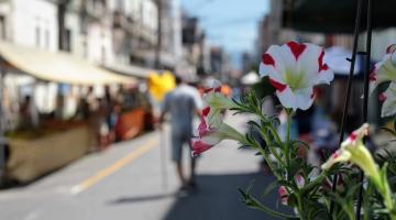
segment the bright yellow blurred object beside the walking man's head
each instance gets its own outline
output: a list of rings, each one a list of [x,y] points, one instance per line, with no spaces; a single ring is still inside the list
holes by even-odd
[[[148,75],[148,91],[157,101],[162,101],[164,96],[175,87],[175,77],[170,72],[164,72],[161,75],[153,72]]]

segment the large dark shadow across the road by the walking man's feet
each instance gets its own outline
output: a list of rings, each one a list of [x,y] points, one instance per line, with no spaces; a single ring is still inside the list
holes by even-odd
[[[284,213],[293,213],[290,209],[278,205],[277,188],[266,197],[261,197],[264,189],[276,179],[262,173],[199,175],[198,191],[178,198],[163,220],[264,220],[275,219],[262,211],[250,209],[241,201],[238,188],[245,189],[253,184],[252,195],[265,206]]]

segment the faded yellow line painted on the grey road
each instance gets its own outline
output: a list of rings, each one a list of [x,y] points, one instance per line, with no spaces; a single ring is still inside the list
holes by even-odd
[[[107,168],[103,168],[102,170],[96,173],[94,176],[91,176],[91,177],[85,179],[84,182],[81,182],[80,184],[74,186],[70,189],[70,193],[73,195],[76,195],[76,194],[79,194],[79,193],[88,189],[89,187],[91,187],[95,184],[99,183],[100,180],[102,180],[107,176],[109,176],[109,175],[113,174],[114,172],[119,170],[120,168],[122,168],[127,164],[129,164],[132,161],[141,157],[142,155],[147,153],[150,150],[152,150],[156,144],[157,144],[157,141],[152,140],[148,143],[146,143],[146,144],[144,144],[142,146],[139,146],[136,150],[134,150],[133,152],[131,152],[130,154],[124,156],[123,158],[120,158],[119,161],[114,162],[113,164],[111,164]]]

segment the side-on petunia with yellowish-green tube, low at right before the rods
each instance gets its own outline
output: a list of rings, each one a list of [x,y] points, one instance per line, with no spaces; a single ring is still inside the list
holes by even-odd
[[[358,165],[366,176],[377,182],[380,174],[376,164],[369,150],[363,144],[363,138],[369,135],[369,124],[363,124],[360,129],[353,131],[341,147],[333,153],[330,158],[322,164],[322,169],[331,168],[336,163],[351,162]]]

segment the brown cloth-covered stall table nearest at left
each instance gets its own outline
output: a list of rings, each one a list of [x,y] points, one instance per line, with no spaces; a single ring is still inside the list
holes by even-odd
[[[7,176],[31,182],[85,155],[92,146],[92,132],[81,124],[37,139],[9,139]]]

